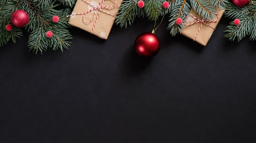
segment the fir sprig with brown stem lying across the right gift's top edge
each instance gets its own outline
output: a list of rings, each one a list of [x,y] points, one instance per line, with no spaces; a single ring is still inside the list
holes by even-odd
[[[191,7],[196,13],[206,20],[212,20],[215,17],[215,8],[207,0],[189,0]]]

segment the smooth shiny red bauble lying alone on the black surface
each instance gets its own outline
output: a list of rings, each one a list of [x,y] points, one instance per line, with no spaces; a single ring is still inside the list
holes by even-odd
[[[150,32],[137,36],[134,42],[136,52],[142,57],[153,57],[160,50],[160,40]]]

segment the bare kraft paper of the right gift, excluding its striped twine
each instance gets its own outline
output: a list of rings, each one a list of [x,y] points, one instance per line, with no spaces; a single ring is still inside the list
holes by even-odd
[[[221,17],[223,15],[224,11],[225,11],[224,9],[218,10],[218,8],[216,8],[215,12],[218,14],[218,17],[219,17],[218,21],[216,21],[214,23],[211,23],[211,22],[206,22],[206,23],[211,25],[212,27],[216,28],[216,26],[218,25],[218,22],[221,20]],[[189,11],[189,14],[193,15],[194,17],[197,17],[198,19],[202,19],[202,17],[199,16],[193,9],[191,9]],[[215,15],[215,18],[213,20],[216,20],[216,19],[217,19],[217,15]],[[195,21],[195,19],[192,17],[188,17],[188,20],[186,20],[186,21]],[[191,22],[184,22],[185,25],[188,23],[191,23]],[[184,29],[180,29],[181,34],[190,39],[194,39],[201,24],[202,24],[202,22],[194,23],[192,25],[186,25]],[[213,32],[214,32],[213,28],[204,24],[202,26],[202,28],[200,29],[200,31],[198,32],[198,35],[196,36],[195,41],[201,45],[206,46],[207,42],[211,38]]]

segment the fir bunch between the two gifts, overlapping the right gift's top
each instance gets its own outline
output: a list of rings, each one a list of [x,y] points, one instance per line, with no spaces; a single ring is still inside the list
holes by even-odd
[[[145,16],[148,20],[155,21],[159,17],[169,14],[168,29],[170,34],[175,36],[180,34],[180,29],[184,28],[184,24],[177,25],[177,18],[182,18],[183,21],[189,14],[190,8],[193,8],[201,17],[206,20],[212,20],[215,17],[215,7],[223,8],[226,0],[168,0],[169,8],[164,9],[162,4],[165,0],[143,0],[145,6],[139,8],[134,0],[124,0],[119,14],[116,17],[116,23],[121,27],[131,25],[136,17]]]

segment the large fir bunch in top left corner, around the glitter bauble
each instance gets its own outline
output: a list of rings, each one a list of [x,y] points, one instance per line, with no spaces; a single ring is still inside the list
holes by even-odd
[[[73,6],[75,0],[58,0],[65,6]],[[12,31],[6,30],[7,24],[12,24],[12,13],[22,9],[29,14],[29,23],[25,29],[29,32],[28,48],[33,53],[43,53],[48,48],[53,50],[70,47],[71,34],[67,15],[71,13],[69,8],[56,10],[59,4],[53,0],[1,0],[0,1],[0,46],[10,40],[16,42],[16,38],[22,36],[21,28],[13,26]],[[52,22],[52,17],[57,15],[59,21]],[[52,31],[53,36],[47,38],[46,32]]]

